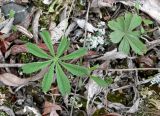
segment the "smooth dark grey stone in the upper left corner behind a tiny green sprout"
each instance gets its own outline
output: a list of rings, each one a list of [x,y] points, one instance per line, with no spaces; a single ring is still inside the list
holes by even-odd
[[[1,9],[6,18],[9,18],[10,10],[15,11],[14,24],[21,23],[28,15],[27,7],[18,5],[16,3],[5,4],[1,7]]]

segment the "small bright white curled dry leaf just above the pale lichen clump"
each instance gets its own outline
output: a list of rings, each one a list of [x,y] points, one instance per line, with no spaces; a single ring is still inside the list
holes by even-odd
[[[85,29],[91,33],[93,33],[94,31],[97,31],[97,28],[95,28],[92,24],[86,22],[84,19],[74,19],[75,22],[77,23],[77,25],[82,28]],[[85,27],[86,25],[86,27]]]

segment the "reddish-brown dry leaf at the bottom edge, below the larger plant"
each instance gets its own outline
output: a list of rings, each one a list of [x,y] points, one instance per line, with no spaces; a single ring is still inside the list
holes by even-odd
[[[42,115],[45,116],[47,114],[50,114],[50,116],[59,116],[56,112],[57,110],[62,110],[62,108],[57,104],[46,101],[44,104],[44,111]]]

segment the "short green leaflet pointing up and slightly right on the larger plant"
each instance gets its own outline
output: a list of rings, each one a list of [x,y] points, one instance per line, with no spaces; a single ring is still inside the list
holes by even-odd
[[[67,50],[69,47],[69,41],[68,38],[63,37],[61,38],[60,45],[58,46],[57,56],[60,57],[65,50]]]

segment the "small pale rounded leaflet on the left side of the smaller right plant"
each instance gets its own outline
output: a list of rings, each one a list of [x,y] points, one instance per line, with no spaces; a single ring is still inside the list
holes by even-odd
[[[110,38],[113,43],[119,43],[124,35],[125,35],[124,32],[117,30],[110,34]]]

